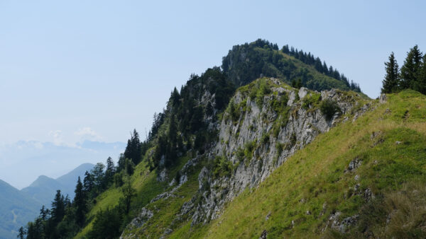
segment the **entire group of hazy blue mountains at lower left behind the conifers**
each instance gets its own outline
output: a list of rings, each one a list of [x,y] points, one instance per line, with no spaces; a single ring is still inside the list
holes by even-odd
[[[83,163],[57,179],[41,175],[21,191],[0,180],[0,238],[16,238],[18,228],[38,216],[40,208],[50,204],[56,190],[72,199],[77,178],[92,170],[92,163]]]

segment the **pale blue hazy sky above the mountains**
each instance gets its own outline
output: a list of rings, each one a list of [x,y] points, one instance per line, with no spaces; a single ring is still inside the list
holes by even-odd
[[[58,165],[28,168],[34,175],[104,161],[58,148],[113,147],[134,128],[144,138],[173,87],[258,38],[315,54],[376,98],[391,52],[400,65],[410,47],[426,52],[425,9],[425,1],[0,0],[0,179],[1,169],[37,162],[24,143],[57,147],[39,148]]]

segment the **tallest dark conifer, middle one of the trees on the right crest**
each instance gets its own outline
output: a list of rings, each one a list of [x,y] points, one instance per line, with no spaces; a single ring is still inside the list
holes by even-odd
[[[410,49],[410,52],[408,52],[404,65],[401,67],[401,89],[413,88],[417,81],[417,76],[420,73],[421,59],[422,52],[420,52],[417,45],[415,45]]]

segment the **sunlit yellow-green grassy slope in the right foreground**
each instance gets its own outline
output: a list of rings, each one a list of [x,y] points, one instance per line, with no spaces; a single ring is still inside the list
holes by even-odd
[[[266,230],[268,238],[319,238],[334,211],[342,212],[341,220],[360,215],[346,237],[359,237],[361,231],[380,237],[425,236],[425,115],[425,95],[414,91],[388,95],[388,103],[354,123],[349,120],[318,136],[260,187],[228,204],[218,220],[201,228],[187,223],[171,237],[258,238]],[[373,132],[380,133],[371,139]],[[354,158],[362,160],[361,166],[344,173]],[[370,188],[376,199],[366,203],[354,192],[356,183],[361,192]],[[393,216],[386,224],[388,214]],[[332,230],[325,233],[341,236]]]

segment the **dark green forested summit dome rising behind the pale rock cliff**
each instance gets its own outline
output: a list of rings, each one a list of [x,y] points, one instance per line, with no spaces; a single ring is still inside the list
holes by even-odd
[[[222,59],[222,69],[236,86],[244,86],[261,76],[280,78],[293,86],[305,86],[315,91],[338,88],[361,91],[359,85],[327,66],[319,57],[285,45],[256,40],[236,45]]]

